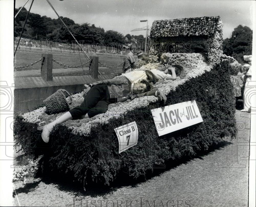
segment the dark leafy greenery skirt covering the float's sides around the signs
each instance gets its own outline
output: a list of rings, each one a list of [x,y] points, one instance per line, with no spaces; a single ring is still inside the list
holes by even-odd
[[[37,124],[24,122],[17,115],[14,139],[26,153],[30,151],[32,158],[45,155],[43,174],[110,185],[121,172],[134,178],[145,176],[156,166],[196,155],[220,143],[225,135],[236,134],[232,90],[227,61],[178,86],[167,95],[165,105],[196,100],[203,122],[161,137],[157,135],[150,111],[161,107],[157,102],[112,119],[108,124],[99,123],[89,136],[74,135],[65,126],[56,125],[48,144],[42,143]],[[138,126],[138,144],[118,154],[118,139],[113,129],[133,121]],[[28,136],[24,136],[26,133]]]

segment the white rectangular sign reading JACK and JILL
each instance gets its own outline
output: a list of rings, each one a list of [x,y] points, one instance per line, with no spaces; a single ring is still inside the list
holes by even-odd
[[[151,110],[159,136],[202,122],[196,101]]]

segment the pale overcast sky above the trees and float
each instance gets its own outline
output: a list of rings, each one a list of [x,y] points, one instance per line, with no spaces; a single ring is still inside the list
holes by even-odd
[[[15,8],[23,6],[26,0],[16,0]],[[132,29],[151,26],[154,20],[177,19],[202,16],[220,16],[224,24],[224,38],[229,38],[238,25],[252,29],[250,7],[247,0],[50,0],[60,16],[73,19],[75,23],[88,22],[106,30],[115,30],[126,35],[143,34],[146,31],[131,32]],[[28,10],[31,1],[25,8]],[[35,0],[32,13],[56,19],[57,16],[46,0]]]

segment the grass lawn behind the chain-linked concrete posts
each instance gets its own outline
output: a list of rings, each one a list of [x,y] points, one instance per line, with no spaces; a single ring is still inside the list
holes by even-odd
[[[95,54],[87,54],[87,55],[90,57],[91,55],[93,56]],[[124,57],[125,56],[121,56],[121,55],[104,54],[104,55],[99,55],[99,61],[108,66],[115,66],[122,63]],[[14,67],[28,65],[30,63],[36,62],[40,58],[41,58],[41,53],[17,51],[14,58]],[[87,59],[83,53],[80,53],[80,58],[81,58],[82,64],[87,62]],[[80,58],[79,58],[79,53],[53,54],[54,60],[70,66],[81,65]],[[53,68],[53,76],[76,76],[76,75],[89,74],[88,73],[89,64],[86,64],[85,66],[83,66],[84,72],[82,70],[82,67],[67,68],[57,63],[53,63],[52,68]],[[99,72],[105,75],[121,74],[122,68],[123,68],[122,65],[116,68],[106,68],[106,67],[101,67],[101,65],[99,64]],[[15,77],[38,77],[38,76],[41,76],[40,69],[41,69],[41,64],[39,62],[27,68],[15,69],[14,76]],[[63,69],[63,70],[55,70],[55,69]]]

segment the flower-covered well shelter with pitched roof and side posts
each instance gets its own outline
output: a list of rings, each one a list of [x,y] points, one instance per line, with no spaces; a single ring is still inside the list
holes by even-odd
[[[174,42],[186,43],[203,40],[207,47],[208,62],[220,63],[223,54],[222,26],[220,16],[155,20],[150,32],[151,57],[156,55],[159,59],[163,43],[168,45]],[[185,47],[185,45],[181,46]],[[189,48],[187,48],[187,53],[189,53]]]

